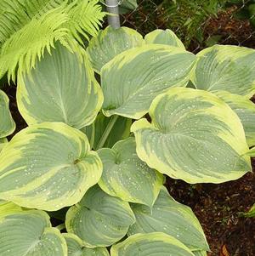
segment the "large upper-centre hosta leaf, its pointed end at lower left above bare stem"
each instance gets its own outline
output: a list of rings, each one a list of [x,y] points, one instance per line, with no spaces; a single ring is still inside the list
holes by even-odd
[[[159,44],[117,55],[101,71],[105,116],[143,117],[156,95],[186,86],[194,62],[194,54]]]

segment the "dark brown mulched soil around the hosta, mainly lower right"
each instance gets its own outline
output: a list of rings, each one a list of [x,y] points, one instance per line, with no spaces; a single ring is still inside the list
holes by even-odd
[[[10,110],[17,125],[14,132],[16,134],[26,127],[26,122],[17,109],[16,88],[6,86],[3,90],[10,99]],[[252,162],[252,167],[255,170],[255,161]],[[208,255],[255,255],[254,219],[241,217],[241,212],[248,211],[255,202],[254,174],[246,174],[241,179],[219,185],[190,185],[167,178],[166,186],[170,194],[178,202],[190,206],[200,220],[212,250]],[[224,253],[224,248],[229,254]]]

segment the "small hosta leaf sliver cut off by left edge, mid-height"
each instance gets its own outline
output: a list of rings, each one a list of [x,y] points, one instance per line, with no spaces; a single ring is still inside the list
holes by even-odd
[[[0,139],[12,134],[15,122],[8,109],[8,96],[0,90]]]

